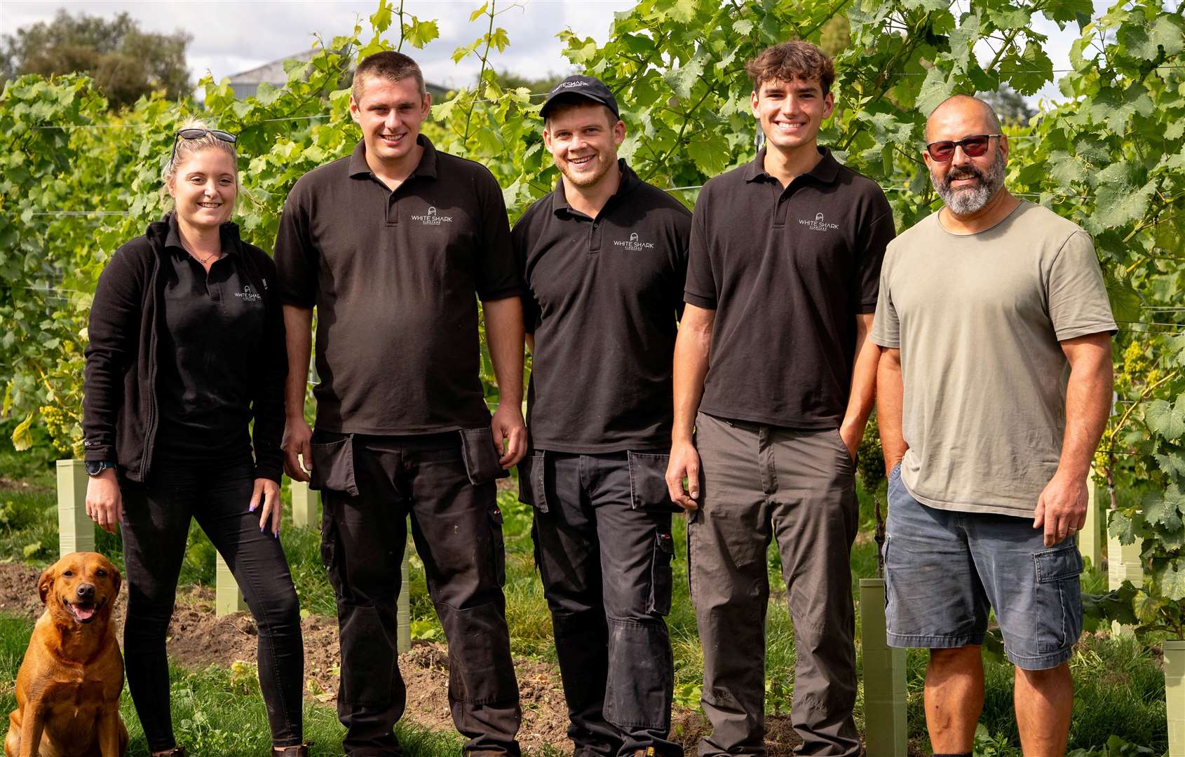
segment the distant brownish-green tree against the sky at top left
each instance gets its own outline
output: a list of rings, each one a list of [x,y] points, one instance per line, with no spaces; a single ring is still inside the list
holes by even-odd
[[[178,31],[154,34],[140,30],[128,13],[114,19],[70,15],[58,11],[0,40],[0,83],[21,73],[85,72],[111,108],[134,103],[162,89],[171,98],[190,91],[185,49],[192,36]]]

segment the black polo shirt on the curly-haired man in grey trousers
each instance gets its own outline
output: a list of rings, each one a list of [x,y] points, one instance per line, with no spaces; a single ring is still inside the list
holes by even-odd
[[[844,418],[856,314],[876,310],[895,231],[880,187],[819,152],[783,190],[762,149],[696,203],[684,300],[716,310],[709,415],[799,429]]]

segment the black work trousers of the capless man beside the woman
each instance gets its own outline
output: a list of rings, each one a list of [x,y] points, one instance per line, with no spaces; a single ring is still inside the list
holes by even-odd
[[[321,558],[337,595],[341,639],[338,717],[351,757],[399,753],[392,727],[406,692],[397,660],[396,597],[409,514],[448,641],[449,707],[457,731],[468,737],[465,752],[520,753],[514,736],[521,711],[502,597],[502,517],[493,479],[470,481],[480,445],[462,455],[461,438],[457,432],[314,434]],[[487,429],[488,449],[480,451],[494,455],[497,468],[491,440]]]

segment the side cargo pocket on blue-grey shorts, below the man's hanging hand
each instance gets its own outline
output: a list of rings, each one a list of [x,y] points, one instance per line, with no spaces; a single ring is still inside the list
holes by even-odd
[[[1075,540],[1033,553],[1037,571],[1037,652],[1061,652],[1082,634],[1082,556]]]

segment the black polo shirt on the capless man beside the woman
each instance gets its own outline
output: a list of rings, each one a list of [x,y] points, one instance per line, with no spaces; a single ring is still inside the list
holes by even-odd
[[[506,205],[480,163],[438,153],[391,192],[348,158],[301,177],[276,236],[282,301],[316,306],[316,425],[428,434],[489,423],[478,297],[519,296]]]

